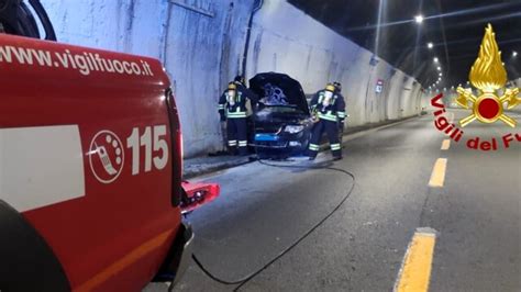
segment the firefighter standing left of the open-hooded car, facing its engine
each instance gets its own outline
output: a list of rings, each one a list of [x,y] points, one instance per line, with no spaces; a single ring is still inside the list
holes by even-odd
[[[255,97],[250,90],[237,87],[235,82],[230,82],[228,90],[219,99],[219,114],[221,115],[221,122],[226,122],[228,147],[232,155],[235,155],[237,149],[240,155],[248,154],[247,100],[255,100]]]

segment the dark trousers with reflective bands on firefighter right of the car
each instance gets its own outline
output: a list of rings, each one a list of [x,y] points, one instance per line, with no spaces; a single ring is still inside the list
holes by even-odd
[[[320,139],[322,138],[324,131],[328,134],[333,157],[342,157],[342,145],[340,144],[339,138],[339,123],[326,120],[320,120],[314,124],[309,144],[309,156],[314,158],[319,154]]]

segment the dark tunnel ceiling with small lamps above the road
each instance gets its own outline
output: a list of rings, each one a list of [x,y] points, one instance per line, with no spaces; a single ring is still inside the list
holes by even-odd
[[[376,52],[379,0],[289,0],[312,18],[358,45]],[[509,78],[520,77],[521,0],[381,0],[378,56],[414,76],[424,87],[439,78],[439,88],[468,80],[485,26],[491,23]],[[422,14],[419,25],[414,16]],[[428,48],[428,43],[433,48]]]

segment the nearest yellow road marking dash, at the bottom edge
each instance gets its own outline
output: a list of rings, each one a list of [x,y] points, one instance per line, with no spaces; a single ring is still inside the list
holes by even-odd
[[[429,291],[435,244],[436,234],[434,231],[414,233],[398,276],[396,292]]]

